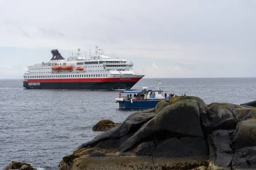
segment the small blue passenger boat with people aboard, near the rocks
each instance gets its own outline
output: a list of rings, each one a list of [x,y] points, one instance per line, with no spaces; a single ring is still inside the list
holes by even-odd
[[[157,90],[148,90],[147,87],[143,87],[142,90],[122,91],[119,98],[116,98],[116,103],[119,103],[119,108],[145,109],[154,108],[161,101],[169,102],[169,97],[165,99],[163,87],[160,88],[160,85],[161,83],[157,80]]]

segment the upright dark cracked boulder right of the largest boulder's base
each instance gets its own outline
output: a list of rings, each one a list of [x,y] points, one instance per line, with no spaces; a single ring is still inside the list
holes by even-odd
[[[217,167],[230,168],[233,159],[230,136],[227,130],[213,131],[207,138],[209,157]]]

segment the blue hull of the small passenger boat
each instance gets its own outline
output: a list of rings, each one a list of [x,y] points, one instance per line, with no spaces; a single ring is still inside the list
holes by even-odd
[[[158,102],[166,101],[169,102],[169,100],[135,100],[135,101],[123,101],[119,102],[119,108],[154,108],[156,107]]]

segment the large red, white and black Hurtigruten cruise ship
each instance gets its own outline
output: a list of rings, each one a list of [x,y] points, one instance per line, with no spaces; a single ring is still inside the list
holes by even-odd
[[[118,90],[131,89],[144,75],[136,75],[132,62],[112,58],[95,46],[90,59],[78,53],[65,59],[58,49],[51,51],[49,62],[28,66],[23,75],[23,87],[29,89],[84,89]],[[91,51],[90,51],[91,54]]]

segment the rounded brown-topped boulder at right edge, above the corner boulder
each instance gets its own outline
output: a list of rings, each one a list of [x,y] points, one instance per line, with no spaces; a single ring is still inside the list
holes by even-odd
[[[256,146],[256,119],[239,122],[237,133],[233,139],[235,149]]]

